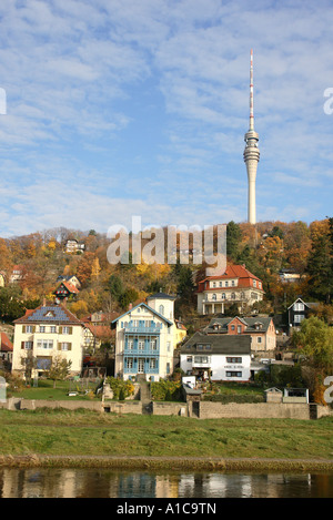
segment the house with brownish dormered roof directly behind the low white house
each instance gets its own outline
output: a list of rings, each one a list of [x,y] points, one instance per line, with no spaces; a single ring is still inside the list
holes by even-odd
[[[212,318],[204,328],[209,335],[245,335],[251,338],[251,353],[264,355],[276,348],[276,330],[270,316]]]

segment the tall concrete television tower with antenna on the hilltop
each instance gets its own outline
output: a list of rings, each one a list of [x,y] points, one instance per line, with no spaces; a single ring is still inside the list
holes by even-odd
[[[249,181],[249,198],[248,198],[248,221],[250,224],[256,223],[255,216],[255,177],[259,163],[260,152],[258,147],[259,134],[254,132],[253,116],[253,51],[251,49],[250,60],[250,128],[244,135],[246,143],[244,150],[244,162],[246,164]]]

